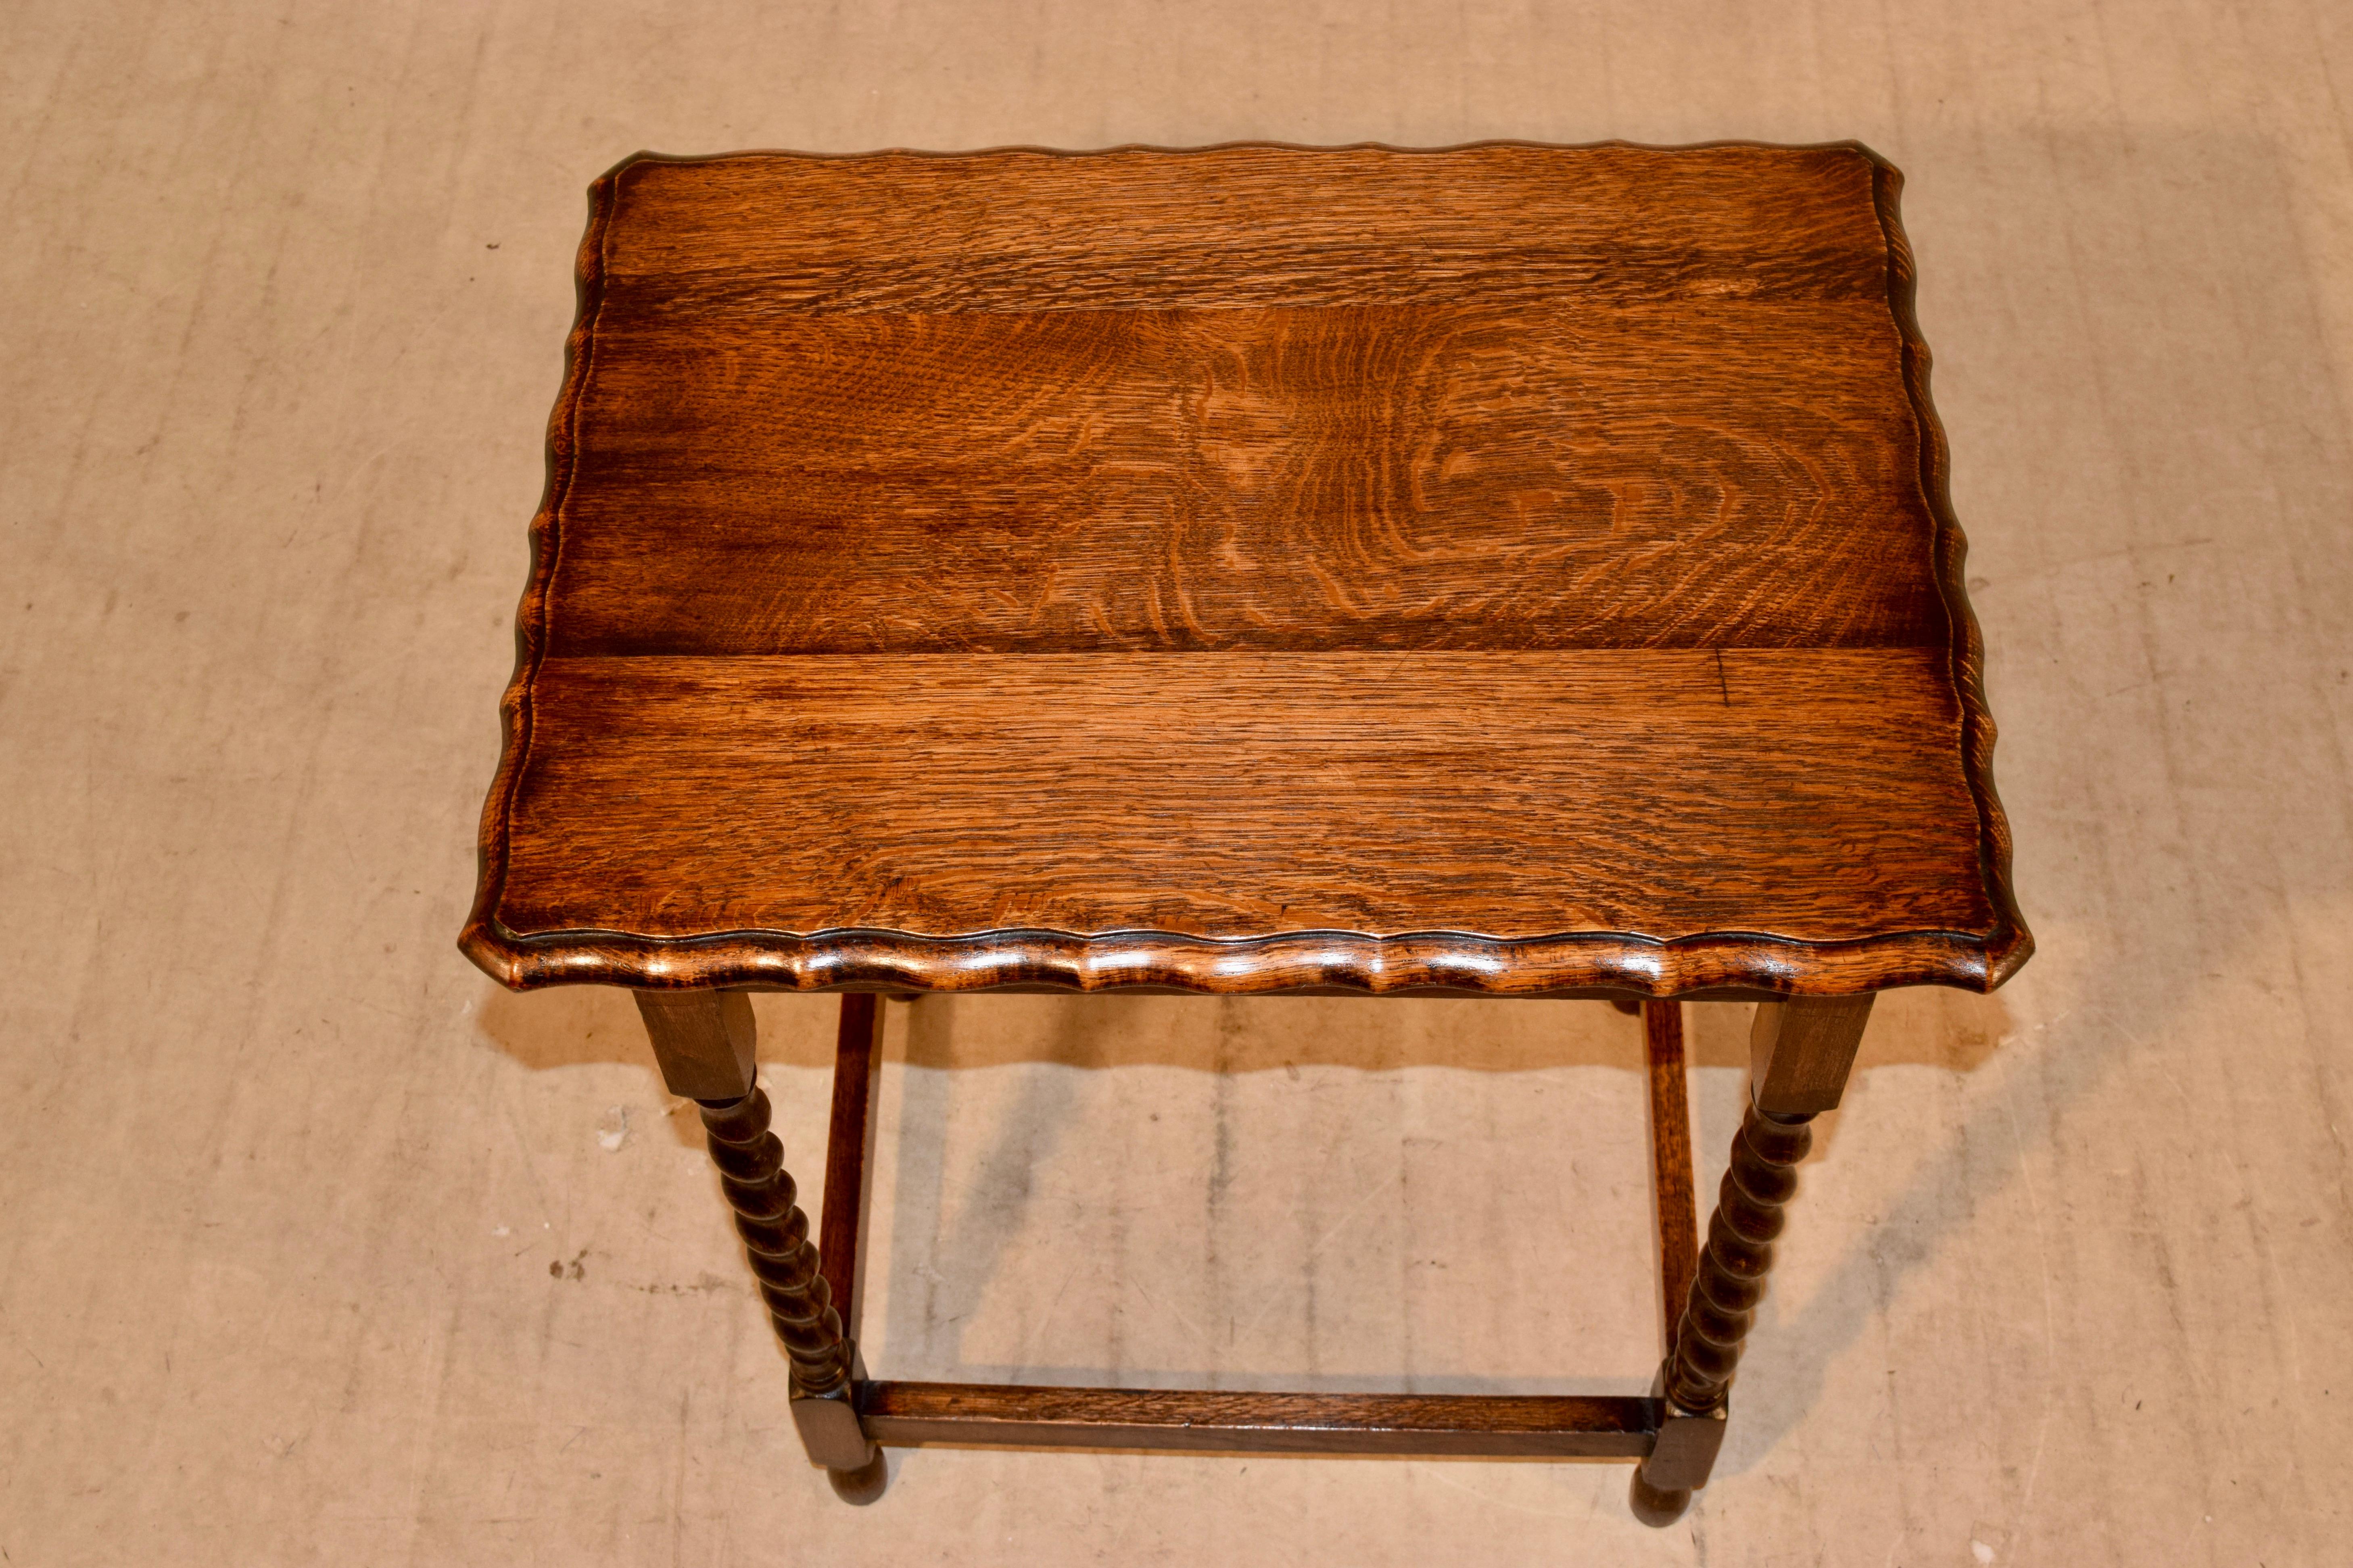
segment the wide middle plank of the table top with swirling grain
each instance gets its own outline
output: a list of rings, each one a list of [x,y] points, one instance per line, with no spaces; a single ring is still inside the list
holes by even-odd
[[[600,355],[551,656],[1946,639],[1885,301],[631,320]]]

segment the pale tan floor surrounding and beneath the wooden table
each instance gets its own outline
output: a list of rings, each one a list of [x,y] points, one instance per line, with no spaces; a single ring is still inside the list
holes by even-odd
[[[2341,1554],[2344,7],[40,0],[0,42],[12,1563]],[[1607,134],[1906,169],[2040,954],[1880,1006],[1673,1530],[1621,1465],[1475,1460],[913,1450],[838,1505],[628,1001],[449,947],[584,186]],[[814,1190],[831,1004],[760,1020]],[[1708,1190],[1744,1009],[1692,1037]],[[1640,1394],[1640,1067],[1600,1004],[894,1009],[866,1359]]]

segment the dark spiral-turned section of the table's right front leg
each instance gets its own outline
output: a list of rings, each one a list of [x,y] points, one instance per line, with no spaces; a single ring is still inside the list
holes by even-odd
[[[1769,1117],[1753,1105],[1732,1138],[1732,1168],[1715,1194],[1708,1246],[1666,1361],[1666,1399],[1678,1410],[1720,1410],[1741,1342],[1765,1298],[1772,1244],[1798,1190],[1798,1161],[1814,1145],[1812,1117]]]

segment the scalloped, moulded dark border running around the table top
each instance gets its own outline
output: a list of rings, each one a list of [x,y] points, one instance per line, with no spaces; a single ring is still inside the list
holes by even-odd
[[[1962,710],[1962,773],[1977,802],[1979,875],[1995,907],[1986,933],[1889,931],[1854,940],[1812,943],[1751,931],[1711,931],[1649,938],[1631,931],[1565,931],[1497,938],[1461,931],[1369,936],[1360,931],[1285,931],[1254,938],[1205,938],[1176,931],[1038,931],[1002,929],[965,936],[833,929],[725,931],[656,938],[624,931],[548,931],[518,936],[496,922],[506,889],[506,823],[515,788],[529,764],[529,691],[546,654],[548,583],[562,552],[555,520],[572,489],[579,393],[595,364],[595,324],[605,292],[605,235],[621,176],[642,162],[720,162],[727,158],[986,158],[1040,153],[1099,158],[1104,153],[1219,153],[1231,148],[1464,153],[1489,146],[1591,150],[1628,148],[1685,153],[1758,148],[1777,153],[1847,150],[1871,162],[1871,193],[1887,242],[1887,306],[1901,339],[1904,390],[1920,433],[1920,494],[1934,520],[1937,588],[1953,628],[1953,684]],[[1861,141],[1779,146],[1767,141],[1701,141],[1654,146],[1638,141],[1464,141],[1445,148],[1398,148],[1353,141],[1313,148],[1289,141],[1221,141],[1200,148],[1125,143],[1066,150],[998,146],[967,153],[889,148],[878,153],[715,153],[675,158],[631,153],[588,186],[588,230],[574,263],[574,317],[565,339],[565,376],[548,416],[548,477],[532,517],[532,567],[515,614],[515,675],[499,698],[504,748],[489,797],[482,802],[480,877],[459,950],[511,990],[546,985],[628,985],[638,990],[1172,990],[1200,994],[1471,994],[1471,997],[1762,997],[1854,994],[1899,985],[1953,985],[1991,992],[2033,954],[2033,936],[2009,886],[2009,820],[1993,792],[1993,715],[1984,691],[1984,639],[1965,592],[1967,538],[1946,487],[1951,454],[1929,400],[1929,350],[1913,313],[1915,270],[1904,237],[1899,195],[1904,174]]]

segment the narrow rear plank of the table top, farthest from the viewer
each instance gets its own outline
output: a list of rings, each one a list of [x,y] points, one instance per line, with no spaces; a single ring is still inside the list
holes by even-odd
[[[1871,179],[1732,143],[635,158],[598,261],[678,313],[1875,296]]]

